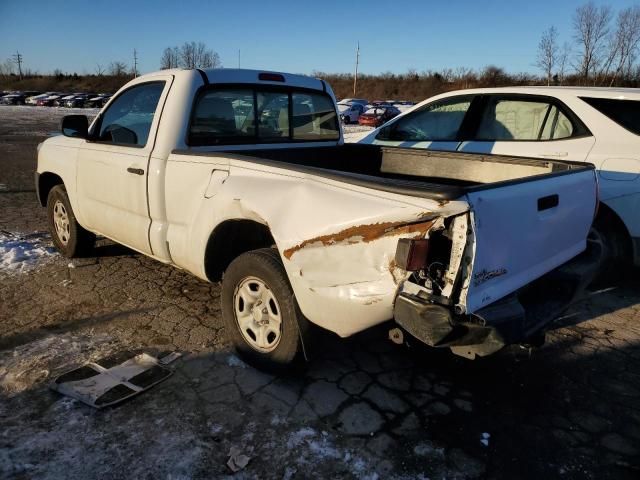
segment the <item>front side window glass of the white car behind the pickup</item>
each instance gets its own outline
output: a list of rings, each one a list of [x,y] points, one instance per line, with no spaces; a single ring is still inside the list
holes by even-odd
[[[456,140],[472,96],[439,100],[405,115],[391,126],[386,140],[412,142]],[[378,137],[384,139],[382,137]]]

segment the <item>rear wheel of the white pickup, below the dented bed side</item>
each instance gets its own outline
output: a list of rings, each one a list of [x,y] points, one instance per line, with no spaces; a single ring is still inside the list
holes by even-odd
[[[227,338],[247,363],[280,371],[297,361],[301,313],[276,249],[253,250],[233,260],[220,301]]]

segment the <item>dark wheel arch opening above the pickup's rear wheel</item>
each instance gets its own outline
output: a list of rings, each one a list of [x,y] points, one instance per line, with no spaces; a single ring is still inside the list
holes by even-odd
[[[205,274],[209,281],[217,282],[239,255],[275,244],[269,227],[264,223],[247,219],[225,220],[209,235],[204,254]]]

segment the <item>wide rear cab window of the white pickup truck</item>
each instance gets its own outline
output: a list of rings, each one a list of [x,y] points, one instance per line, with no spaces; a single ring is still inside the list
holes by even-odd
[[[333,100],[323,92],[264,85],[212,85],[197,96],[190,146],[337,141]]]

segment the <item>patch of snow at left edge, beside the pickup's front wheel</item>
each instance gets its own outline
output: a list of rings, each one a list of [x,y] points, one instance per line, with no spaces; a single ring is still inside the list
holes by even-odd
[[[0,231],[0,272],[24,273],[56,255],[47,234]]]

